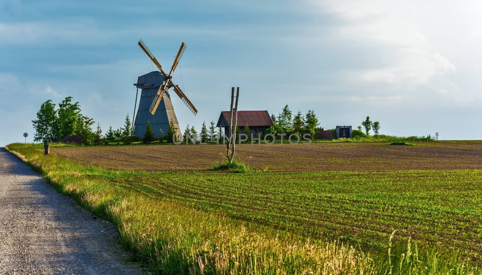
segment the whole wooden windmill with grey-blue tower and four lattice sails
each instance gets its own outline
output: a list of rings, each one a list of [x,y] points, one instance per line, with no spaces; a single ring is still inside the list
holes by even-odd
[[[162,70],[161,64],[159,61],[157,61],[152,52],[149,51],[142,39],[138,44],[141,49],[146,52],[147,56],[149,56],[152,62],[159,68],[159,71],[153,71],[142,75],[137,78],[137,83],[134,83],[134,86],[137,88],[137,92],[139,92],[139,88],[141,89],[141,98],[139,100],[139,107],[137,108],[137,115],[135,116],[133,125],[134,135],[142,137],[146,131],[147,121],[149,121],[151,123],[152,130],[154,131],[154,136],[159,138],[162,135],[167,134],[169,123],[173,122],[176,136],[177,138],[180,138],[181,131],[179,129],[176,114],[174,113],[174,107],[169,94],[169,89],[174,88],[174,92],[179,96],[179,98],[181,98],[181,101],[186,104],[187,108],[194,115],[198,113],[196,107],[192,105],[191,101],[189,101],[179,86],[174,84],[172,79],[172,74],[179,64],[179,60],[186,49],[186,44],[182,42],[181,47],[179,47],[179,51],[174,58],[174,62],[171,66],[171,71],[169,74],[166,74],[164,70]],[[135,94],[135,103],[137,104],[137,93]]]

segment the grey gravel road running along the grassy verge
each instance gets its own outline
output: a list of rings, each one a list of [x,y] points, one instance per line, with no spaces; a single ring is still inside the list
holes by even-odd
[[[111,223],[0,148],[0,274],[141,274],[129,258]]]

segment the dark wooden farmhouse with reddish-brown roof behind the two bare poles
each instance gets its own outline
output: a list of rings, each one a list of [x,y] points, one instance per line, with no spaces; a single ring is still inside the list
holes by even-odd
[[[229,132],[230,115],[229,111],[222,111],[216,124],[216,127],[223,127],[226,134]],[[241,133],[243,133],[243,128],[246,124],[249,126],[249,130],[256,135],[273,126],[273,121],[266,110],[238,111],[238,121],[236,122],[236,126]]]

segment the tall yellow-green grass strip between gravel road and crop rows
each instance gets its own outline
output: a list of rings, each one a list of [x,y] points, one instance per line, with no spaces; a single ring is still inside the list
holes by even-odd
[[[197,210],[113,181],[129,172],[43,156],[24,144],[10,144],[9,150],[59,192],[112,221],[139,260],[162,274],[482,274],[459,253],[440,246],[419,248],[409,240],[380,255],[363,254],[338,241],[321,242]],[[180,179],[172,173],[170,181]]]

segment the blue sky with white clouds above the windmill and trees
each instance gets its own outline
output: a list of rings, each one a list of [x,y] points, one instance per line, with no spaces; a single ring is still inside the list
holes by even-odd
[[[143,39],[198,109],[171,92],[183,130],[228,110],[313,109],[325,129],[482,139],[481,1],[0,0],[0,146],[33,142],[32,119],[66,96],[103,131],[132,117],[133,83],[156,69]]]

